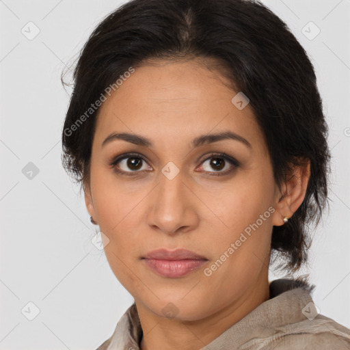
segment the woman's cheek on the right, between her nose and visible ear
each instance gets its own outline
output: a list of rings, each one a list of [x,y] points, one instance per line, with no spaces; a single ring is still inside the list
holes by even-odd
[[[215,257],[224,260],[225,253],[230,256],[223,264],[226,267],[220,267],[221,273],[233,273],[236,278],[259,271],[270,252],[273,178],[267,172],[251,174],[237,176],[237,181],[222,191],[214,204],[217,217],[210,224],[215,227],[217,218],[221,221],[220,239],[211,242]]]

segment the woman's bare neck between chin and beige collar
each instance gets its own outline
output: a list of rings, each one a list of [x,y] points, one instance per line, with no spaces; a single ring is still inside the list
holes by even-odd
[[[135,300],[144,336],[141,350],[199,350],[212,342],[226,329],[243,319],[264,301],[269,299],[267,276],[247,288],[245,293],[231,304],[208,317],[195,321],[167,319],[150,312]]]

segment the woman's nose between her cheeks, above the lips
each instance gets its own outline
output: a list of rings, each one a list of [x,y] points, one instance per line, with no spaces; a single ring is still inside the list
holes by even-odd
[[[194,230],[199,222],[198,202],[181,172],[174,178],[162,173],[148,199],[148,225],[153,230],[172,235]]]

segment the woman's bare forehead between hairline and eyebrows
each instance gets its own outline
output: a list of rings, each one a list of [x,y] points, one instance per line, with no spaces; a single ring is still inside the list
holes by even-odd
[[[199,62],[139,66],[101,105],[95,137],[101,143],[112,132],[133,131],[169,141],[229,129],[261,141],[250,105],[238,109],[236,95],[217,70]]]

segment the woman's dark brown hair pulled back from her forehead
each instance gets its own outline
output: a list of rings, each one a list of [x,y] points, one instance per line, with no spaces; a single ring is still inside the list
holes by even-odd
[[[106,16],[83,46],[74,70],[62,132],[64,168],[81,185],[89,181],[98,109],[88,116],[86,111],[106,87],[148,59],[195,57],[217,62],[232,87],[250,98],[279,186],[293,165],[310,160],[304,201],[272,233],[271,256],[279,253],[287,260],[279,267],[295,272],[307,261],[308,224],[319,223],[327,204],[328,129],[306,51],[259,1],[133,0]]]

